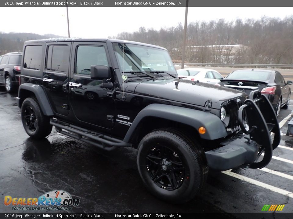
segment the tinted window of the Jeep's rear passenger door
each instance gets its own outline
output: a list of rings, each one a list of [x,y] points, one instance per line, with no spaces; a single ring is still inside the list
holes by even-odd
[[[50,71],[68,71],[69,47],[67,45],[48,46],[46,69]]]

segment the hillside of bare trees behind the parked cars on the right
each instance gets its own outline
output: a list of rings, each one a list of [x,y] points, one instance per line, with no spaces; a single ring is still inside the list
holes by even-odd
[[[161,30],[140,27],[134,33],[123,32],[112,38],[165,47],[176,62],[182,57],[180,23]],[[293,64],[293,16],[189,23],[185,60],[186,63]]]

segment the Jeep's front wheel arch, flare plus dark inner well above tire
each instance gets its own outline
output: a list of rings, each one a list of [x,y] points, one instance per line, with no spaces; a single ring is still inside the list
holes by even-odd
[[[189,134],[194,134],[194,137],[205,140],[215,140],[227,135],[226,128],[220,118],[212,113],[154,103],[139,112],[123,141],[137,142],[146,132],[163,127],[189,130]],[[205,127],[206,133],[199,134],[199,127]]]

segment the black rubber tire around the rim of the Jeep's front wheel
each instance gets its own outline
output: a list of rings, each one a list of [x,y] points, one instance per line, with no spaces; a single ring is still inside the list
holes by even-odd
[[[150,176],[152,170],[149,168],[151,167],[147,165],[149,162],[147,155],[152,153],[154,148],[162,147],[162,145],[166,145],[168,149],[174,151],[186,167],[182,184],[173,190],[159,186],[161,182],[154,182]],[[193,199],[201,191],[208,175],[208,165],[199,144],[195,139],[190,139],[172,129],[154,130],[143,137],[138,145],[137,166],[139,174],[150,192],[159,199],[172,203],[184,203]]]

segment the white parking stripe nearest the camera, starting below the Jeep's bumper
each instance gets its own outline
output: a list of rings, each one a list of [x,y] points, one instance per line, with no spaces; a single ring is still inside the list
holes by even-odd
[[[276,193],[279,193],[281,195],[285,195],[285,196],[293,198],[293,193],[289,192],[287,190],[280,189],[280,188],[277,188],[275,186],[271,186],[271,185],[263,183],[263,182],[259,182],[259,181],[255,180],[255,179],[251,179],[251,178],[248,178],[246,176],[241,176],[241,175],[239,175],[237,173],[231,172],[230,170],[223,171],[222,173],[224,173],[224,174],[226,174],[228,176],[232,176],[232,177],[237,178],[237,179],[241,179],[241,180],[243,180],[245,182],[249,182],[249,183],[254,184],[256,186],[260,186],[262,188],[269,189],[269,190],[271,190],[273,192],[276,192]]]

